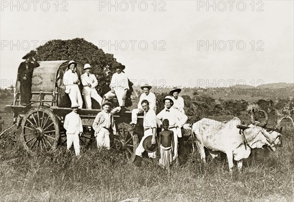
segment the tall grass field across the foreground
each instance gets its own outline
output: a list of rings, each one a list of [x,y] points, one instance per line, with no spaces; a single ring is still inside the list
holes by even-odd
[[[12,114],[0,116],[5,127]],[[147,158],[142,167],[128,165],[121,153],[81,148],[80,158],[64,147],[28,154],[19,141],[0,138],[0,202],[31,201],[294,201],[294,129],[283,131],[283,147],[253,164],[244,161],[242,172],[228,173],[226,159],[202,163],[191,142],[180,149],[179,165],[170,172]],[[129,200],[127,200],[129,199]]]

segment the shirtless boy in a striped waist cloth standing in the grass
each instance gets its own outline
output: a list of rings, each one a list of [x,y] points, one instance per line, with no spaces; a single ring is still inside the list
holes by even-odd
[[[170,123],[167,119],[163,120],[162,126],[164,130],[159,132],[158,141],[158,153],[160,153],[158,165],[168,169],[172,165],[172,155],[174,155],[173,131],[169,130]]]

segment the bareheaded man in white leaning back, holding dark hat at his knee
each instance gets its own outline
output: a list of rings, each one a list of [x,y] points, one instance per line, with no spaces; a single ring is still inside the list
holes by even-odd
[[[149,158],[156,158],[156,150],[157,147],[154,146],[156,144],[156,114],[154,110],[149,108],[149,102],[147,100],[143,100],[141,102],[142,108],[144,110],[144,120],[143,120],[143,127],[144,127],[144,136],[139,143],[139,146],[136,149],[136,157],[134,160],[134,164],[136,165],[141,162],[142,153],[147,150]],[[151,145],[149,147],[146,146],[147,141],[144,140],[148,138],[151,141]],[[145,145],[145,146],[144,146]],[[152,146],[153,145],[153,146]],[[144,148],[145,147],[145,148]],[[147,148],[147,149],[146,149]],[[149,148],[149,149],[148,149]]]

